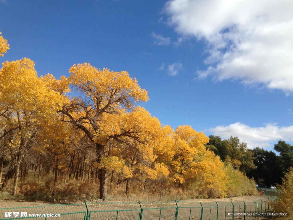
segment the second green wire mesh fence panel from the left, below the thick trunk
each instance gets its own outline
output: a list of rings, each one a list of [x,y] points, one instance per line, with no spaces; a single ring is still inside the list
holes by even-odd
[[[88,220],[139,220],[139,202],[89,202]]]

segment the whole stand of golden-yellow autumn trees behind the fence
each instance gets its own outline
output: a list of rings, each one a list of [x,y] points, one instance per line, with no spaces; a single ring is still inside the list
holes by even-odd
[[[7,42],[0,36],[1,56]],[[2,63],[0,182],[7,172],[1,191],[54,197],[61,182],[63,195],[98,188],[94,193],[105,200],[114,181],[125,186],[125,195],[132,185],[144,191],[150,184],[154,193],[192,189],[200,197],[226,197],[243,185],[253,189],[253,180],[238,171],[254,168],[238,138],[222,141],[189,125],[162,126],[138,105],[149,100],[148,92],[127,71],[82,63],[68,72],[60,79],[38,76],[29,58]],[[291,152],[279,148],[284,157]],[[25,181],[28,176],[33,182]],[[243,193],[251,192],[234,195]]]

